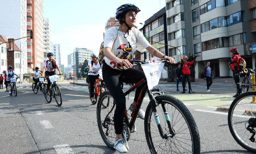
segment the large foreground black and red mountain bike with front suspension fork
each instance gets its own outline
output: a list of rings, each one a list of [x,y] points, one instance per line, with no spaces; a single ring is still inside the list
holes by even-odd
[[[159,61],[167,62],[165,59]],[[145,63],[132,60],[133,66]],[[124,92],[124,95],[127,96],[135,88],[146,82],[145,77]],[[199,154],[200,137],[196,122],[188,108],[177,98],[164,94],[159,88],[149,90],[147,84],[142,88],[138,103],[131,114],[128,114],[125,108],[126,116],[123,122],[122,138],[127,149],[129,150],[127,141],[129,141],[131,133],[136,132],[135,121],[146,93],[148,93],[150,102],[146,109],[144,130],[150,153]],[[115,105],[116,102],[109,92],[100,95],[97,104],[98,127],[103,141],[113,150],[116,139],[114,128]]]

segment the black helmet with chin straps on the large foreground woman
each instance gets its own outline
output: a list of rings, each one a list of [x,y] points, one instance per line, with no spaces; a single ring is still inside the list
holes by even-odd
[[[129,27],[128,24],[120,17],[121,14],[123,14],[124,12],[126,11],[129,11],[129,10],[134,10],[136,11],[136,14],[138,12],[140,12],[140,9],[133,5],[133,4],[124,4],[124,5],[121,5],[119,6],[117,9],[116,9],[116,19],[119,20],[119,21],[122,21],[126,27],[128,27],[127,31],[124,33],[124,35],[127,33],[129,35],[129,30],[132,29],[132,27]],[[128,36],[127,36],[128,37]],[[124,38],[127,38],[124,36]]]

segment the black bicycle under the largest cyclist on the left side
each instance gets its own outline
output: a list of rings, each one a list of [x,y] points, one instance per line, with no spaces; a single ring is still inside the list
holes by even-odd
[[[57,74],[60,75],[60,74]],[[46,79],[49,78],[49,76],[45,77]],[[55,98],[56,103],[58,106],[62,105],[62,96],[60,92],[60,88],[56,81],[52,82],[49,88],[49,94],[47,94],[47,83],[44,83],[44,98],[45,100],[50,103],[52,101],[52,97]]]

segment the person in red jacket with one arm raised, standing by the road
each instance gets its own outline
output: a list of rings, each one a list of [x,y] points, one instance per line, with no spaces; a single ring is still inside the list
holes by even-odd
[[[190,85],[190,69],[189,69],[189,66],[194,64],[195,61],[196,61],[196,57],[194,57],[194,60],[191,61],[191,62],[187,62],[187,59],[188,57],[187,56],[183,56],[183,63],[182,63],[182,82],[183,82],[183,92],[181,94],[185,94],[185,83],[186,83],[186,80],[188,81],[188,88],[189,88],[189,91],[188,93],[189,94],[192,94],[191,92],[191,85]]]

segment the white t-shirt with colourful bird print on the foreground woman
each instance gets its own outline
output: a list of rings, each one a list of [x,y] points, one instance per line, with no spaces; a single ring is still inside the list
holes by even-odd
[[[120,59],[132,60],[135,50],[144,52],[144,49],[146,49],[148,46],[151,46],[147,39],[137,28],[132,27],[132,30],[137,37],[137,41],[132,31],[129,32],[129,36],[127,38],[124,38],[125,32],[118,31],[116,38],[116,29],[119,29],[119,26],[111,27],[106,31],[104,38],[104,48],[109,47],[111,49],[111,53]],[[127,36],[127,33],[125,36]],[[116,41],[114,43],[115,39]],[[123,70],[122,67],[117,67],[116,62],[109,60],[107,57],[104,57],[104,59],[105,62],[112,68]]]

